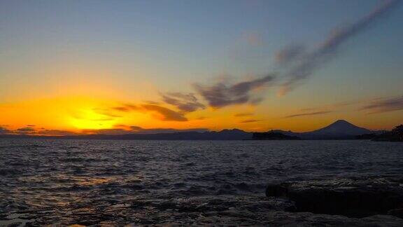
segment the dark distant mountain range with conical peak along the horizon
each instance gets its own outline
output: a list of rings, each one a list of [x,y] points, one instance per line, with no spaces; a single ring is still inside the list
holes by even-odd
[[[339,120],[311,132],[292,132],[271,130],[269,132],[245,132],[239,129],[218,132],[171,132],[155,134],[127,135],[0,135],[0,138],[43,138],[43,139],[166,139],[166,140],[242,140],[242,139],[355,139],[359,135],[374,134],[375,131],[355,126],[348,121]]]

